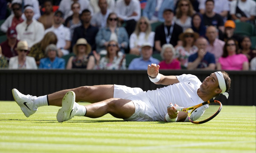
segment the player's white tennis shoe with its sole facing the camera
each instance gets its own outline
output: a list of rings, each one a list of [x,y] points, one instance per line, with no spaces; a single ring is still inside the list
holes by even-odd
[[[75,93],[73,91],[69,91],[62,99],[62,107],[57,113],[57,121],[64,122],[73,118],[76,111]]]

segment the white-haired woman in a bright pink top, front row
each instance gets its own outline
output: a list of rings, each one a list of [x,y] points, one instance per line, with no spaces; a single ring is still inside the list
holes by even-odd
[[[163,61],[159,63],[159,69],[181,69],[180,62],[174,58],[175,49],[171,44],[162,46],[161,57]]]

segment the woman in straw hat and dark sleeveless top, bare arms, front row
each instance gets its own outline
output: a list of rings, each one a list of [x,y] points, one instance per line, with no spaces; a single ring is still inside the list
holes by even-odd
[[[91,45],[87,43],[86,39],[80,38],[73,47],[73,52],[76,56],[71,56],[67,62],[67,69],[71,68],[85,68],[93,69],[95,59],[89,55],[91,52]]]

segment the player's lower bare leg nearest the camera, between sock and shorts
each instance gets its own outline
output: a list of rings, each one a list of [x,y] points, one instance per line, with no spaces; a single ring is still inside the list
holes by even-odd
[[[135,112],[135,106],[131,100],[121,98],[110,98],[105,101],[86,105],[86,115],[89,118],[102,117],[111,114],[116,118],[129,118]]]

